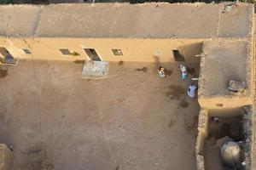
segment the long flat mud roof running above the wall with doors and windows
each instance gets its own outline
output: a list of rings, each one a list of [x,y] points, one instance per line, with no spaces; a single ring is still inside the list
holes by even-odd
[[[253,4],[77,3],[1,5],[2,37],[250,37]],[[148,20],[150,19],[150,20]]]

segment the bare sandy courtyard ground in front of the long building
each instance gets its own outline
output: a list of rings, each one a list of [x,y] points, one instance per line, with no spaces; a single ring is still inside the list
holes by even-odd
[[[112,63],[81,79],[82,64],[21,60],[0,78],[0,142],[12,170],[195,170],[199,105],[178,65]],[[198,74],[197,64],[189,65]]]

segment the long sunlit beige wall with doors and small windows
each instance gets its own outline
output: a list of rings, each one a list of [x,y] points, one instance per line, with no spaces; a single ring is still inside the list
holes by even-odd
[[[172,62],[174,61],[172,50],[178,49],[187,61],[200,62],[195,54],[201,54],[201,42],[202,40],[189,39],[0,38],[0,47],[8,48],[14,57],[20,59],[88,59],[83,48],[96,48],[102,60],[145,62]],[[22,48],[28,48],[32,54],[24,54]],[[59,48],[68,48],[81,56],[63,56]],[[112,48],[121,49],[124,55],[113,55]]]

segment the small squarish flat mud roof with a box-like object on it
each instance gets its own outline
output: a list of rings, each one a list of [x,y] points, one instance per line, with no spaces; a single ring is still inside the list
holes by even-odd
[[[204,42],[199,95],[231,95],[230,80],[247,82],[247,88],[251,88],[249,44],[241,40]]]

